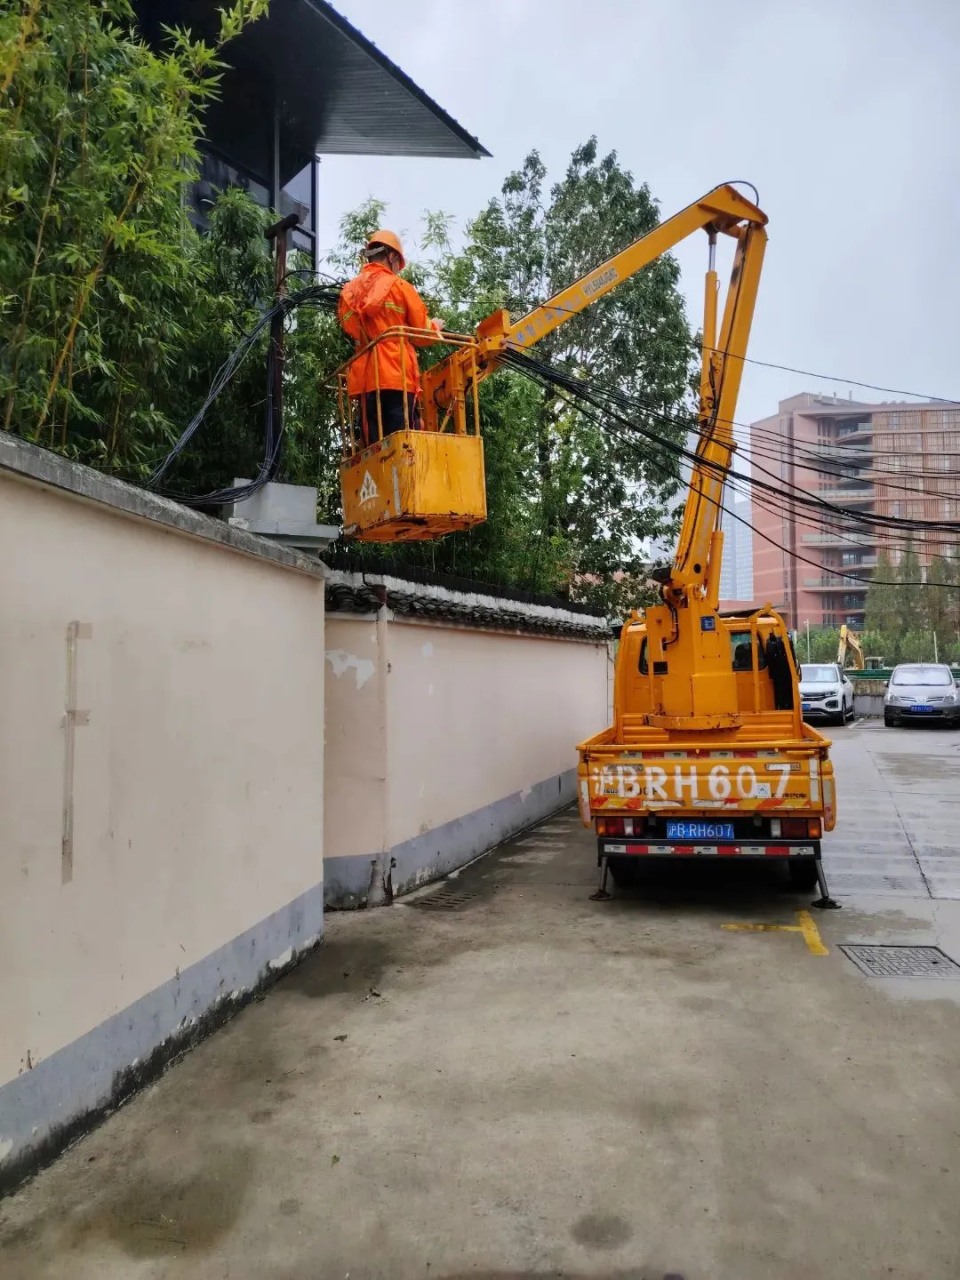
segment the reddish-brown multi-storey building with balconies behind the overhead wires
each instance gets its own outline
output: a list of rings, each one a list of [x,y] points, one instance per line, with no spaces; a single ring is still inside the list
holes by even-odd
[[[863,627],[883,535],[799,506],[788,486],[851,511],[960,521],[960,403],[872,404],[804,392],[751,425],[750,452],[755,479],[785,483],[776,497],[754,493],[754,596],[782,609],[792,627]],[[918,534],[914,544],[922,564],[960,553],[960,536],[941,532]],[[901,544],[887,549],[896,562]]]

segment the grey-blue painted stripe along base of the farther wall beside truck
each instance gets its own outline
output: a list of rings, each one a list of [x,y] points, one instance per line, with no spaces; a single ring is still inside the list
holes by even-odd
[[[463,818],[445,822],[422,836],[404,840],[390,849],[385,859],[376,854],[356,854],[324,859],[326,905],[330,908],[362,906],[370,888],[374,864],[397,860],[393,869],[394,892],[404,893],[431,879],[447,876],[474,858],[525,827],[540,822],[547,814],[576,799],[576,769],[558,773],[538,782],[527,792],[511,796],[476,809]]]

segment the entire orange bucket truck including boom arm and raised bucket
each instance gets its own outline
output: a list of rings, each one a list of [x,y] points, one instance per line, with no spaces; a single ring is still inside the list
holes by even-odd
[[[797,888],[819,883],[820,836],[836,818],[829,741],[804,724],[783,620],[764,605],[718,608],[723,485],[767,233],[767,215],[723,184],[520,320],[488,316],[425,370],[422,429],[364,448],[339,374],[344,531],[366,541],[436,538],[486,518],[479,383],[680,241],[708,239],[699,439],[680,543],[662,603],[635,612],[617,655],[613,723],[579,748],[582,820],[596,831],[600,888],[649,858],[778,858]],[[735,242],[719,315],[716,250]],[[378,340],[404,333],[389,330]],[[371,344],[372,346],[372,344]],[[365,348],[353,358],[362,358]]]

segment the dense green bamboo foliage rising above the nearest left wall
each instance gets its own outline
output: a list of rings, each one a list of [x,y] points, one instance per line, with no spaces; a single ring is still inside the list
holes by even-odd
[[[161,52],[128,0],[26,0],[0,18],[8,430],[140,476],[177,434],[191,372],[225,355],[218,334],[234,340],[242,278],[225,308],[209,306],[223,264],[198,247],[183,197],[220,49],[266,6],[237,0],[216,42],[173,31]]]

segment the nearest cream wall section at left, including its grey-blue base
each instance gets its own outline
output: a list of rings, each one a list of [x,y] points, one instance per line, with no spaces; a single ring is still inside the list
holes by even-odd
[[[8,472],[0,544],[0,1160],[14,1160],[319,933],[323,579]],[[70,869],[72,622],[90,721]]]

